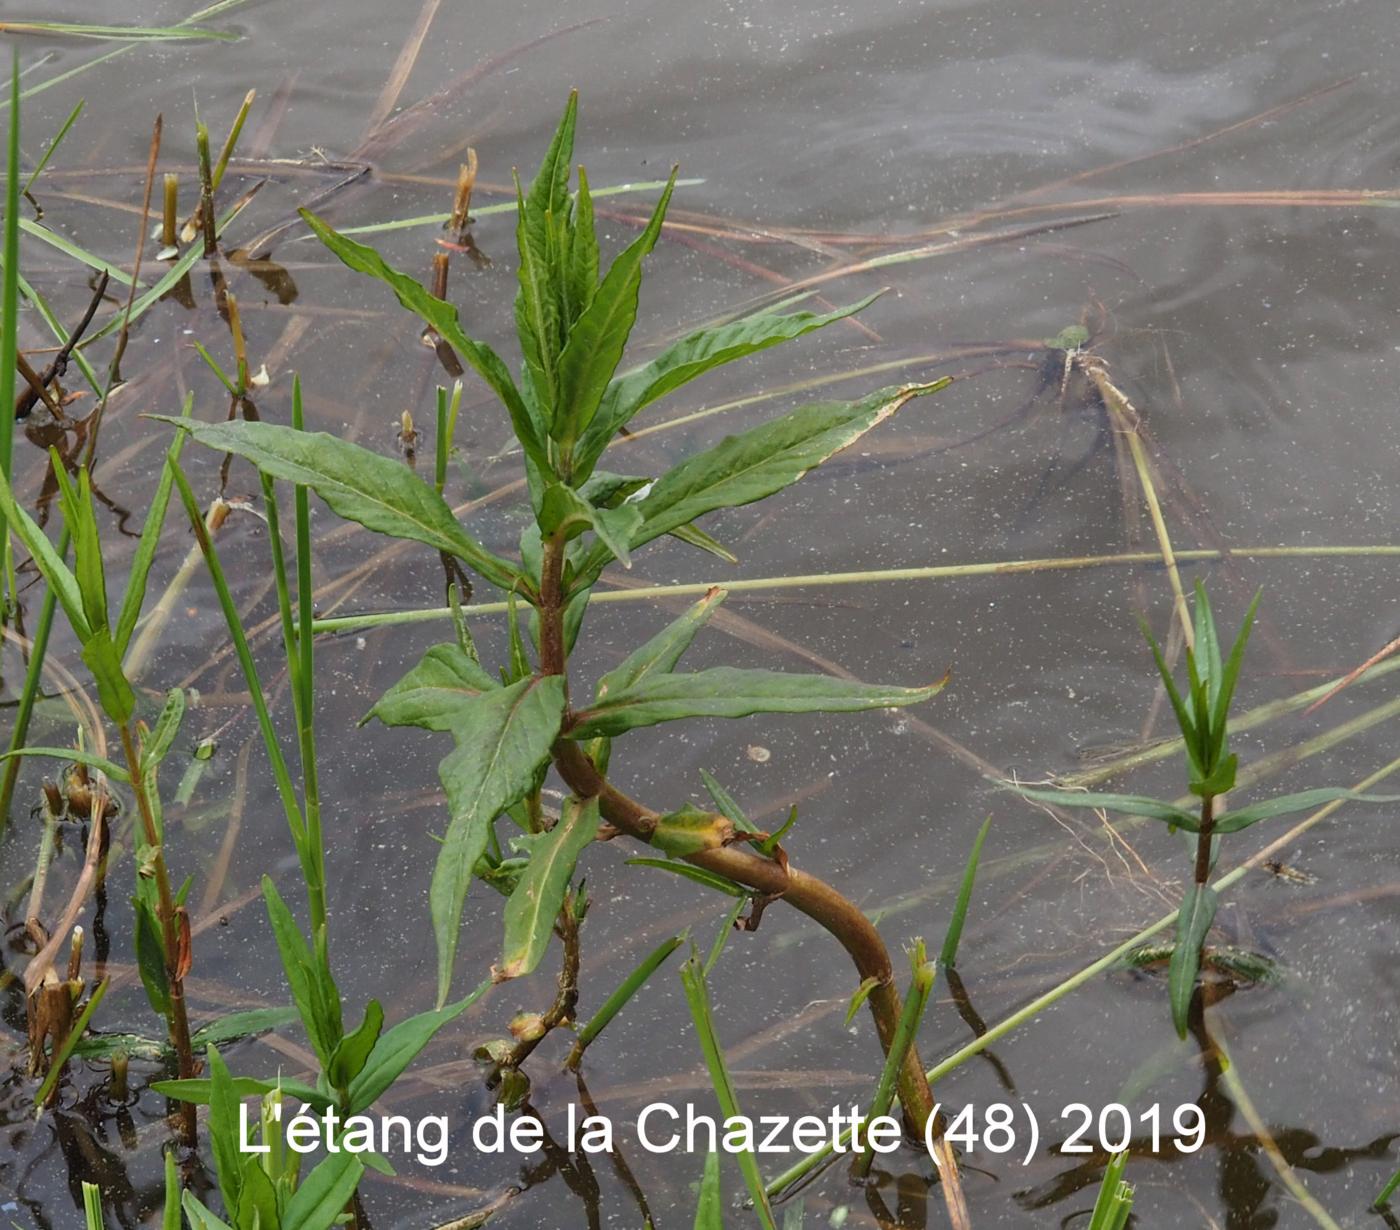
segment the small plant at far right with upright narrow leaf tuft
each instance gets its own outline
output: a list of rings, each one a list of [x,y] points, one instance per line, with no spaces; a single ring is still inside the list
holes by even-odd
[[[1239,771],[1239,757],[1229,750],[1229,707],[1245,663],[1245,645],[1254,624],[1259,599],[1260,595],[1256,593],[1245,613],[1235,644],[1225,655],[1215,630],[1215,616],[1211,612],[1210,599],[1205,596],[1205,586],[1200,581],[1196,582],[1196,614],[1191,637],[1194,648],[1189,645],[1186,649],[1184,690],[1177,687],[1151,628],[1145,621],[1142,624],[1142,634],[1152,648],[1152,658],[1162,676],[1162,686],[1172,701],[1176,725],[1182,732],[1186,763],[1190,770],[1187,789],[1200,800],[1196,809],[1187,810],[1180,802],[1154,799],[1147,795],[1022,789],[1026,798],[1056,803],[1061,807],[1109,807],[1130,816],[1162,820],[1173,831],[1182,828],[1194,835],[1191,880],[1186,886],[1176,918],[1176,942],[1172,947],[1168,980],[1172,1024],[1176,1026],[1176,1033],[1183,1038],[1186,1037],[1191,994],[1196,989],[1205,938],[1219,905],[1215,890],[1210,884],[1211,870],[1219,852],[1219,838],[1229,833],[1240,833],[1260,820],[1306,812],[1336,799],[1390,802],[1393,798],[1358,795],[1352,791],[1324,786],[1294,795],[1280,795],[1217,814],[1219,800],[1235,789]]]

